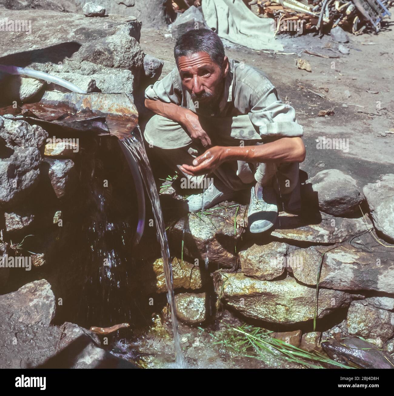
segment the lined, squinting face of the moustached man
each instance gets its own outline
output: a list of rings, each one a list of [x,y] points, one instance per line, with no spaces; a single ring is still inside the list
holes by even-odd
[[[228,68],[227,56],[222,67],[206,52],[178,58],[182,85],[190,93],[193,101],[198,101],[201,107],[212,107],[219,102]]]

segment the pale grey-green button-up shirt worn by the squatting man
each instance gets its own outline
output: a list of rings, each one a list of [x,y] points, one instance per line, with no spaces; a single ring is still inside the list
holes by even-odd
[[[295,110],[280,100],[276,88],[261,70],[233,59],[229,59],[229,63],[230,70],[219,110],[211,116],[220,118],[248,114],[263,140],[303,136],[303,128],[295,119]],[[175,103],[198,114],[198,108],[195,108],[190,94],[182,86],[177,67],[162,80],[148,86],[145,98]],[[240,136],[242,138],[245,136]]]

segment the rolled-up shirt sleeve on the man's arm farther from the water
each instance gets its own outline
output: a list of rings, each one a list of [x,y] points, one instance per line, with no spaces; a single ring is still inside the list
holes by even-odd
[[[303,128],[295,119],[295,110],[279,99],[271,83],[265,82],[259,89],[253,89],[250,100],[249,118],[259,129],[262,139],[303,136]]]

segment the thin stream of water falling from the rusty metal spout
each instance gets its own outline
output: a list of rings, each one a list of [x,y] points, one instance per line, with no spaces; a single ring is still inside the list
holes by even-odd
[[[141,171],[141,176],[145,184],[145,189],[147,190],[147,194],[152,204],[153,215],[156,222],[157,237],[160,242],[162,251],[164,276],[166,278],[167,286],[167,300],[171,309],[175,360],[177,367],[181,368],[183,366],[183,362],[181,346],[179,343],[178,321],[176,314],[177,310],[175,307],[172,267],[169,255],[166,227],[164,225],[162,208],[160,206],[159,194],[156,188],[156,184],[154,182],[152,168],[150,168],[147,153],[145,151],[145,147],[141,137],[141,130],[139,129],[139,127],[136,127],[135,132],[130,135],[130,137],[125,137],[120,142],[127,148],[127,151],[125,151],[126,155],[131,155],[133,156],[134,160],[136,160],[139,170]]]

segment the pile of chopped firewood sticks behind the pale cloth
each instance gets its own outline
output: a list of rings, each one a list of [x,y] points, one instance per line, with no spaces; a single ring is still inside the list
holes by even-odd
[[[382,8],[377,2],[366,0],[253,0],[249,5],[259,17],[274,18],[277,32],[294,30],[295,24],[287,21],[302,21],[303,30],[322,33],[325,26],[341,26],[360,34],[368,26],[375,32],[380,30],[381,17],[390,15],[386,10],[390,3],[391,0],[383,1]]]

